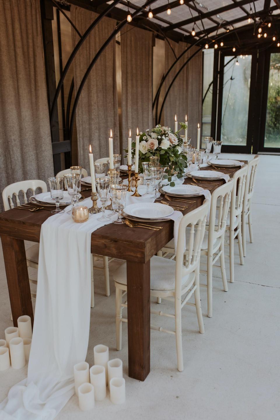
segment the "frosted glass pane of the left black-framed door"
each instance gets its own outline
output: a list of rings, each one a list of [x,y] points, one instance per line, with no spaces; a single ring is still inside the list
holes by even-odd
[[[252,56],[230,61],[232,58],[225,57],[221,140],[224,144],[246,146]]]

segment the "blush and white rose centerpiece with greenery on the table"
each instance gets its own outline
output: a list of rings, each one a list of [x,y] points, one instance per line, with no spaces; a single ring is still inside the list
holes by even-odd
[[[180,123],[180,125],[181,129],[185,128],[184,123]],[[151,156],[159,156],[160,165],[166,167],[163,177],[167,178],[170,186],[175,186],[175,183],[171,181],[172,175],[176,173],[177,178],[182,178],[187,166],[187,157],[183,153],[183,140],[179,131],[174,132],[170,128],[158,124],[152,130],[140,132],[139,172],[143,172],[142,162],[149,162]],[[131,152],[134,157],[135,142],[131,144]]]

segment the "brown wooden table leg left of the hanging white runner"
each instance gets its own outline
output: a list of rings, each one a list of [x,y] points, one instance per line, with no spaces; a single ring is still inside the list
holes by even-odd
[[[10,295],[13,325],[15,327],[18,326],[19,316],[29,315],[33,326],[33,308],[24,241],[22,239],[11,238],[9,236],[1,236],[1,241]]]

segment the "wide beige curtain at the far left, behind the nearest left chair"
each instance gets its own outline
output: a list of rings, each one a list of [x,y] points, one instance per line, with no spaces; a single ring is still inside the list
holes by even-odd
[[[39,0],[0,0],[0,150],[1,191],[53,176]]]

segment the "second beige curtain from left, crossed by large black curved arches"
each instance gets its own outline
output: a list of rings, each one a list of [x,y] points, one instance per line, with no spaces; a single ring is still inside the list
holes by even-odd
[[[97,13],[71,5],[71,20],[81,34],[84,34],[97,16]],[[115,20],[103,18],[76,54],[74,58],[75,92],[94,55],[113,32],[115,26]],[[79,39],[72,29],[73,48]],[[109,156],[110,129],[113,131],[114,152],[120,152],[115,55],[115,40],[112,40],[92,68],[82,89],[76,110],[79,164],[88,172],[89,144],[92,145],[94,160]]]

